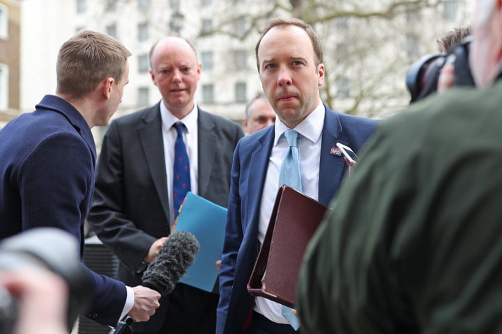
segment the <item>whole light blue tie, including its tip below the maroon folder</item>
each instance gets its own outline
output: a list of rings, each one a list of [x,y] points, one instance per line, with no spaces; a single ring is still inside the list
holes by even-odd
[[[282,160],[281,170],[279,174],[279,186],[287,184],[298,191],[302,191],[301,186],[301,172],[300,172],[300,160],[298,159],[298,132],[295,130],[287,129],[284,132],[284,136],[289,144],[289,149],[286,153],[286,157]],[[284,318],[291,324],[295,331],[298,331],[300,327],[300,321],[291,312],[291,308],[286,305],[281,305],[281,313]]]

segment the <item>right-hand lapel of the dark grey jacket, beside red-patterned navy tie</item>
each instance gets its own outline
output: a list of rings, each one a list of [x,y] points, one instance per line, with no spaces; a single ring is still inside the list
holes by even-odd
[[[197,120],[198,146],[199,146],[199,195],[205,196],[208,189],[209,177],[213,169],[213,161],[215,158],[216,150],[215,143],[217,141],[216,135],[213,132],[215,127],[213,120],[207,117],[204,111],[197,109],[199,112]],[[204,166],[201,166],[204,162]]]

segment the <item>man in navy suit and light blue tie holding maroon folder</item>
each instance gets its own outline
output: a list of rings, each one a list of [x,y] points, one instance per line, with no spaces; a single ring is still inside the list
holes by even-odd
[[[335,196],[348,166],[336,143],[357,152],[377,121],[335,113],[321,102],[322,49],[312,27],[299,19],[272,19],[256,47],[257,66],[275,125],[244,137],[231,173],[227,230],[220,271],[217,333],[296,333],[278,303],[251,296],[246,285],[271,216],[282,160],[282,136],[298,132],[303,193],[324,205]]]

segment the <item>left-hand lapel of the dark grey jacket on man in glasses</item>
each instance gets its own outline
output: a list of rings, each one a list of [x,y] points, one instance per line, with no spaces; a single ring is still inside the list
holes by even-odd
[[[169,205],[167,195],[167,176],[165,173],[164,141],[162,139],[162,120],[160,119],[160,106],[156,104],[149,113],[146,113],[144,124],[137,131],[149,167],[150,174],[155,184],[162,209],[169,222]]]

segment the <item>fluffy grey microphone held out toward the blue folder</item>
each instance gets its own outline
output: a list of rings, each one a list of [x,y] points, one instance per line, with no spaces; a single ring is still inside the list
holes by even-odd
[[[162,296],[171,293],[195,260],[199,251],[199,241],[186,231],[175,231],[169,234],[155,259],[146,267],[142,281],[144,287],[149,287]],[[126,315],[110,334],[133,333],[134,319]]]

